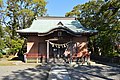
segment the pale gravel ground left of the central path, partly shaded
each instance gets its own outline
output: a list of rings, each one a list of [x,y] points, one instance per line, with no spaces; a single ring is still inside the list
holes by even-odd
[[[0,80],[46,80],[50,66],[43,64],[18,64],[0,66]]]

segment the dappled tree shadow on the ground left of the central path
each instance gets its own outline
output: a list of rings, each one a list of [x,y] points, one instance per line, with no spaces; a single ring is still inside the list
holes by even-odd
[[[12,71],[12,74],[4,76],[2,80],[47,80],[53,64],[37,65],[35,68]]]

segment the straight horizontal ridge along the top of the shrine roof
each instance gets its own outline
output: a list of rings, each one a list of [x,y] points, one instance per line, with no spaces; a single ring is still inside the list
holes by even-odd
[[[37,17],[37,19],[40,19],[40,20],[76,20],[75,17],[52,17],[52,16]]]

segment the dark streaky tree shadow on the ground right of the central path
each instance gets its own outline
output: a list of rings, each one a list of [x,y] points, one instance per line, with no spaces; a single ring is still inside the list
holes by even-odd
[[[73,80],[117,80],[120,79],[120,69],[113,66],[81,66],[68,68]]]

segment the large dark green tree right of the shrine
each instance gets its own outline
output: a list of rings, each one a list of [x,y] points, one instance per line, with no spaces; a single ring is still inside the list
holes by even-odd
[[[120,31],[120,2],[119,0],[92,0],[77,5],[66,16],[75,16],[83,26],[97,29],[98,35],[91,37],[91,47],[94,53],[101,52],[103,56],[115,56],[115,42]],[[118,51],[118,50],[117,50]]]

